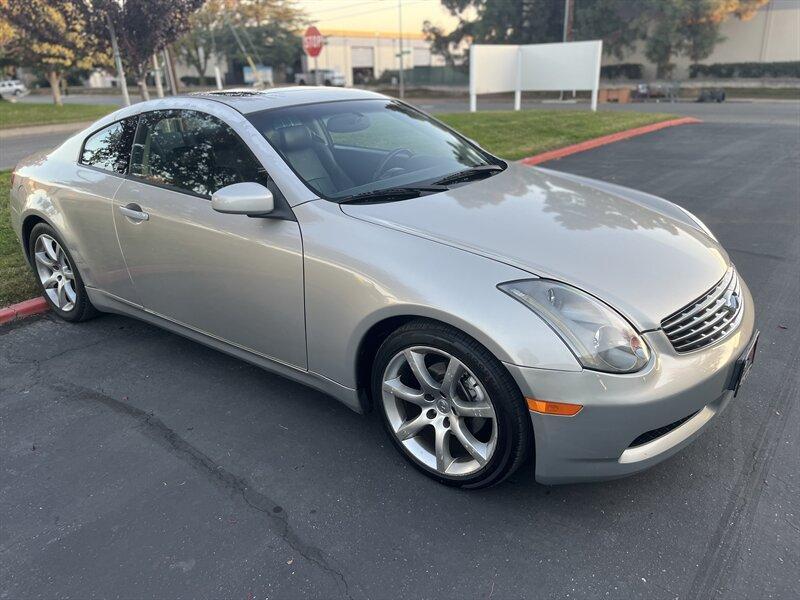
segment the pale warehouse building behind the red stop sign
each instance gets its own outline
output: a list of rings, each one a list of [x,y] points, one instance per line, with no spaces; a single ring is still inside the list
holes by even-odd
[[[344,75],[348,86],[378,79],[386,70],[400,68],[400,37],[397,32],[322,31],[325,45],[314,59],[303,56],[303,71],[334,69]],[[422,33],[403,34],[403,66],[444,66],[441,56],[431,53],[430,42]]]

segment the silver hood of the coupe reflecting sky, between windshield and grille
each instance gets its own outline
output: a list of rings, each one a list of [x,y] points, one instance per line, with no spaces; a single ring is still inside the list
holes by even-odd
[[[672,204],[516,164],[446,192],[345,204],[342,210],[570,283],[615,307],[640,330],[658,328],[729,266],[722,247]],[[464,276],[469,277],[466,263]]]

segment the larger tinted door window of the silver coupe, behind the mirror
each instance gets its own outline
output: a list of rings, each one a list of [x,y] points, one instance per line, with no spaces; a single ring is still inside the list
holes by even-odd
[[[228,125],[196,111],[155,111],[142,116],[131,174],[210,196],[232,183],[267,185],[267,173]]]

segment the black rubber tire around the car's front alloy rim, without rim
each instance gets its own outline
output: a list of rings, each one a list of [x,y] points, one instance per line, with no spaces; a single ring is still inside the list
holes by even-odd
[[[497,416],[497,445],[489,461],[466,476],[439,473],[415,458],[397,439],[382,402],[383,375],[398,352],[412,346],[443,350],[460,360],[484,386]],[[506,479],[533,451],[533,428],[524,398],[514,379],[494,355],[462,331],[427,319],[411,321],[394,331],[378,349],[372,367],[371,392],[392,444],[417,469],[450,486],[483,488]]]

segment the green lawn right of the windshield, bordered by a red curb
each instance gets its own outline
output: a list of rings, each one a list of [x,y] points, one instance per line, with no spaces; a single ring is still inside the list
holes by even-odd
[[[674,115],[588,110],[523,110],[436,115],[502,158],[525,158],[547,150],[674,119]]]

